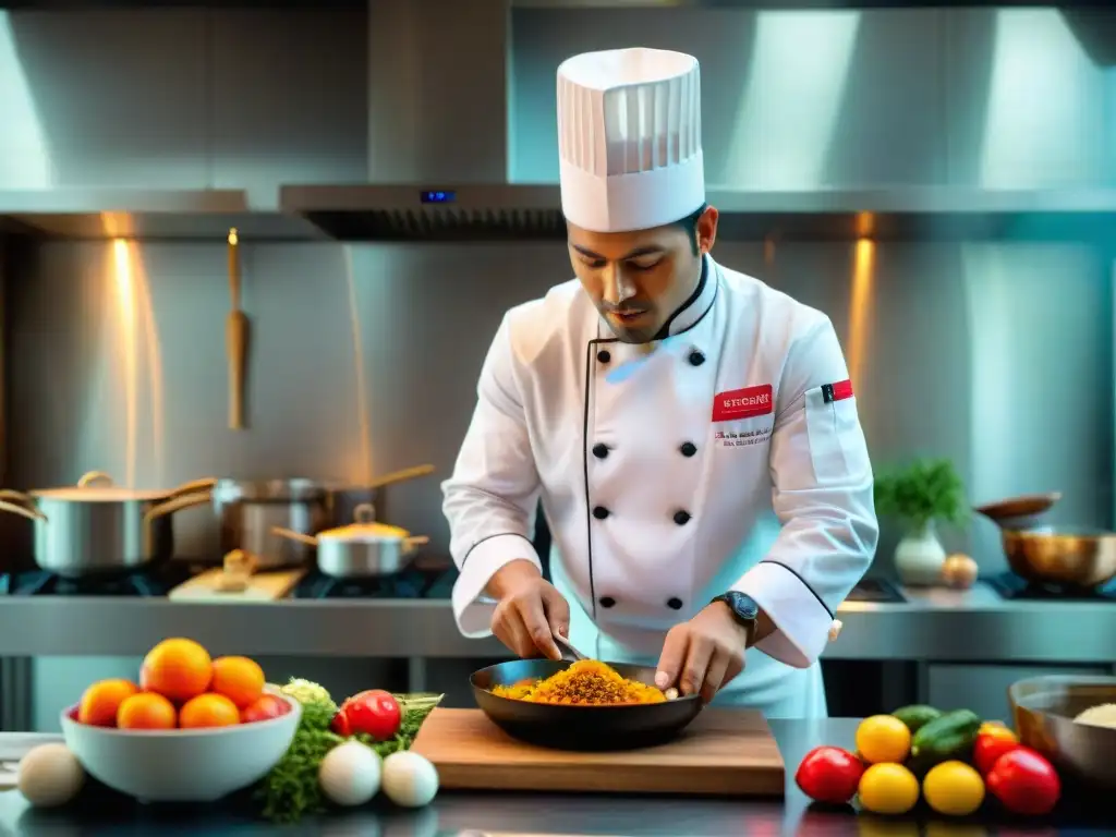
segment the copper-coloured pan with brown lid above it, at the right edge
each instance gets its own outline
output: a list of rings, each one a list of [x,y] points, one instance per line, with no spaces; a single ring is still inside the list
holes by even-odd
[[[1041,523],[1060,499],[1057,492],[1029,494],[975,511],[1000,527],[1008,566],[1031,584],[1089,590],[1116,578],[1116,532]]]

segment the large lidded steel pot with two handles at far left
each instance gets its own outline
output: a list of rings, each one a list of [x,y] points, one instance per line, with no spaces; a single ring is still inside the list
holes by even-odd
[[[209,503],[215,482],[138,490],[90,471],[68,488],[0,491],[0,511],[35,521],[35,562],[42,569],[66,577],[119,573],[170,558],[170,514]]]

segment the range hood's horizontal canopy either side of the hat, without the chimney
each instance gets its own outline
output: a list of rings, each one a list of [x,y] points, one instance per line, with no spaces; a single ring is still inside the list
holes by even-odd
[[[344,241],[562,239],[558,186],[285,186],[285,210]],[[709,192],[718,237],[848,241],[918,239],[1110,240],[1116,190],[1050,192],[958,187]]]

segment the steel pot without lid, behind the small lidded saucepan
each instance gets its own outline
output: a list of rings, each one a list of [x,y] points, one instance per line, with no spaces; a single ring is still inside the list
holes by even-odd
[[[271,533],[282,527],[316,535],[333,522],[333,493],[323,482],[292,480],[218,480],[213,509],[221,526],[221,554],[243,550],[259,569],[308,564],[305,543]]]

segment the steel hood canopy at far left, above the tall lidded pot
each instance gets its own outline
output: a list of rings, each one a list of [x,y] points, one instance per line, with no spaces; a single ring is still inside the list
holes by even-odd
[[[0,231],[38,238],[222,241],[324,239],[297,215],[251,209],[241,190],[42,189],[0,191]]]

